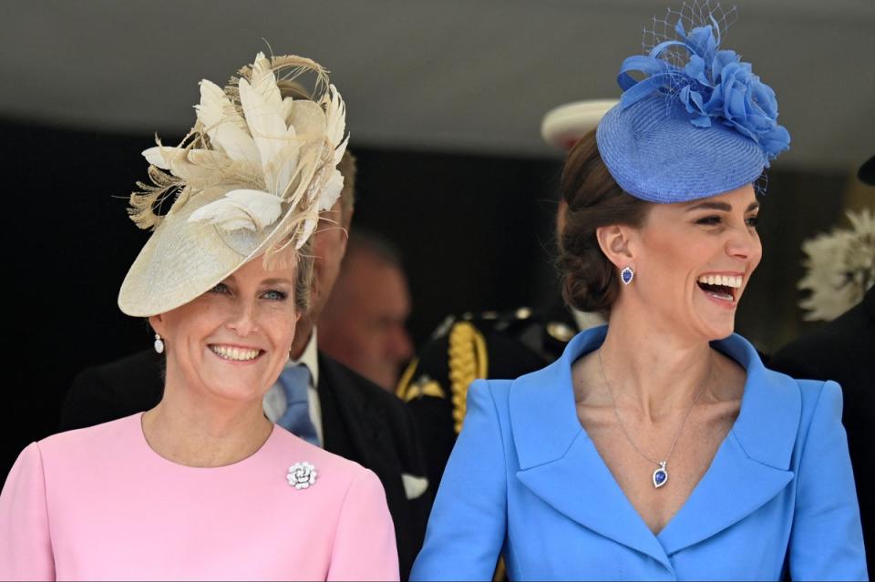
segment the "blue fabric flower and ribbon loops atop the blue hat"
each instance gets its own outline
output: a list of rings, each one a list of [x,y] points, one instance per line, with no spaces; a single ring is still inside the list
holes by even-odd
[[[768,160],[789,148],[790,134],[777,124],[777,99],[771,87],[754,75],[749,63],[732,50],[719,50],[720,29],[714,16],[711,24],[693,28],[689,34],[678,20],[677,40],[666,40],[648,55],[630,56],[623,61],[617,83],[623,88],[621,105],[630,107],[644,97],[662,93],[677,99],[697,128],[722,123],[753,139]],[[682,51],[673,51],[679,47]],[[688,55],[684,66],[672,61],[677,52]],[[635,80],[629,71],[646,78]]]

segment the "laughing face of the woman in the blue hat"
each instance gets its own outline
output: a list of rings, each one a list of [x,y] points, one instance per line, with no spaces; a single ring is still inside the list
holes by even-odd
[[[708,341],[730,335],[738,301],[762,258],[758,211],[750,185],[655,204],[643,227],[629,231],[635,278],[623,287],[621,302],[643,309],[658,325]]]

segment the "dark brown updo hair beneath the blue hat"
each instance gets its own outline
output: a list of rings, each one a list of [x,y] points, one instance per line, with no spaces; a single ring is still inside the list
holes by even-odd
[[[602,161],[595,130],[568,152],[562,168],[562,199],[568,204],[565,226],[557,233],[562,297],[581,311],[610,311],[620,293],[620,276],[599,246],[599,227],[643,226],[650,203],[623,191]]]

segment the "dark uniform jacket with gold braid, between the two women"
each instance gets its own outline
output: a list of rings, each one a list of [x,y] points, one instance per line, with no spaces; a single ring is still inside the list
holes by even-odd
[[[433,489],[462,429],[468,384],[540,370],[577,332],[571,312],[560,304],[543,311],[468,313],[438,328],[398,385],[398,395],[417,419]]]

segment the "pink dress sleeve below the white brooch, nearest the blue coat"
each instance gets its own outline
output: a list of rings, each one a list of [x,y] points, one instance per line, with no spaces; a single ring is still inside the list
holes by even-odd
[[[383,485],[371,471],[346,492],[335,532],[329,580],[397,580],[395,526]]]

